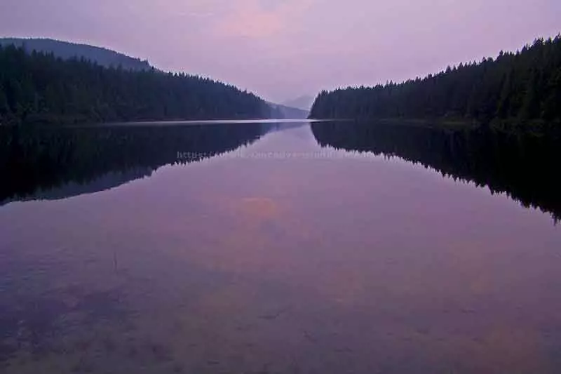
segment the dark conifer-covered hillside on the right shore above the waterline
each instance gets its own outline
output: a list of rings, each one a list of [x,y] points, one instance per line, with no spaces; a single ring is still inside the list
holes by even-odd
[[[561,36],[402,84],[323,91],[317,119],[561,121]]]

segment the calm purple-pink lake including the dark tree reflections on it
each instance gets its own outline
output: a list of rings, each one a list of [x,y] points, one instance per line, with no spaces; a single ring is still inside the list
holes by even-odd
[[[2,373],[559,373],[558,142],[0,128]]]

